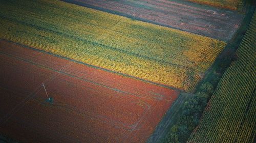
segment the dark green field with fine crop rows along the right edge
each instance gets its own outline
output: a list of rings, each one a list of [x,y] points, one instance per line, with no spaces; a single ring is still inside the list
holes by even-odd
[[[256,11],[237,50],[188,142],[255,142]],[[212,120],[214,119],[214,120]]]

